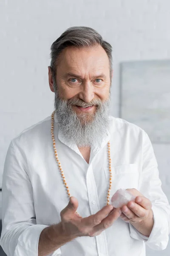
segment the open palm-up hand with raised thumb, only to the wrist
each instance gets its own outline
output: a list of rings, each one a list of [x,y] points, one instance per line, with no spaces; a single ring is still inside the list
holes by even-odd
[[[86,218],[77,215],[78,201],[71,197],[68,205],[60,212],[62,231],[65,236],[98,236],[110,227],[121,215],[120,208],[106,205],[99,212]],[[120,212],[119,212],[120,211]]]

